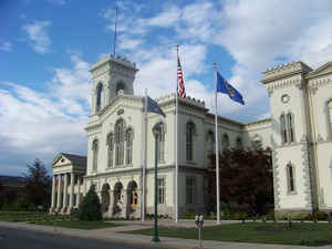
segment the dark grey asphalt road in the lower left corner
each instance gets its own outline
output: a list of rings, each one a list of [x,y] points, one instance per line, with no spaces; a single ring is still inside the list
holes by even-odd
[[[53,235],[40,231],[0,227],[0,249],[155,249],[144,245]]]

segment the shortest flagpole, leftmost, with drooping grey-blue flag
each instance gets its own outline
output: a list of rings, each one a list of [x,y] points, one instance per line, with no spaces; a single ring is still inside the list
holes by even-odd
[[[142,221],[145,220],[145,172],[146,172],[146,136],[147,136],[147,89],[144,96],[144,138],[143,138],[143,164],[142,164]]]

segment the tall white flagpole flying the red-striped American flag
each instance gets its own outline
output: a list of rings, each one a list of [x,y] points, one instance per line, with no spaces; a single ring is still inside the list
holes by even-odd
[[[176,56],[178,60],[178,46],[176,45]],[[178,222],[178,162],[177,162],[177,143],[178,143],[178,75],[176,73],[176,94],[175,94],[175,222]]]

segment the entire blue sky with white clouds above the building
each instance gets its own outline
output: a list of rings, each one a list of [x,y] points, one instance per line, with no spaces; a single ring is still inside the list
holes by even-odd
[[[89,69],[113,53],[115,6],[116,54],[139,69],[135,94],[175,92],[179,44],[187,95],[214,111],[216,62],[246,102],[219,95],[218,113],[239,122],[270,116],[268,68],[332,61],[331,0],[0,0],[0,175],[86,155]]]

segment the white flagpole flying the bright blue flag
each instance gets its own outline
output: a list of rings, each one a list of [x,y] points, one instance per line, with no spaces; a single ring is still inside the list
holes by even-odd
[[[217,63],[214,62],[215,68],[215,125],[216,125],[216,185],[217,185],[217,224],[220,224],[220,194],[219,194],[219,143],[218,143],[218,92],[217,92]]]

